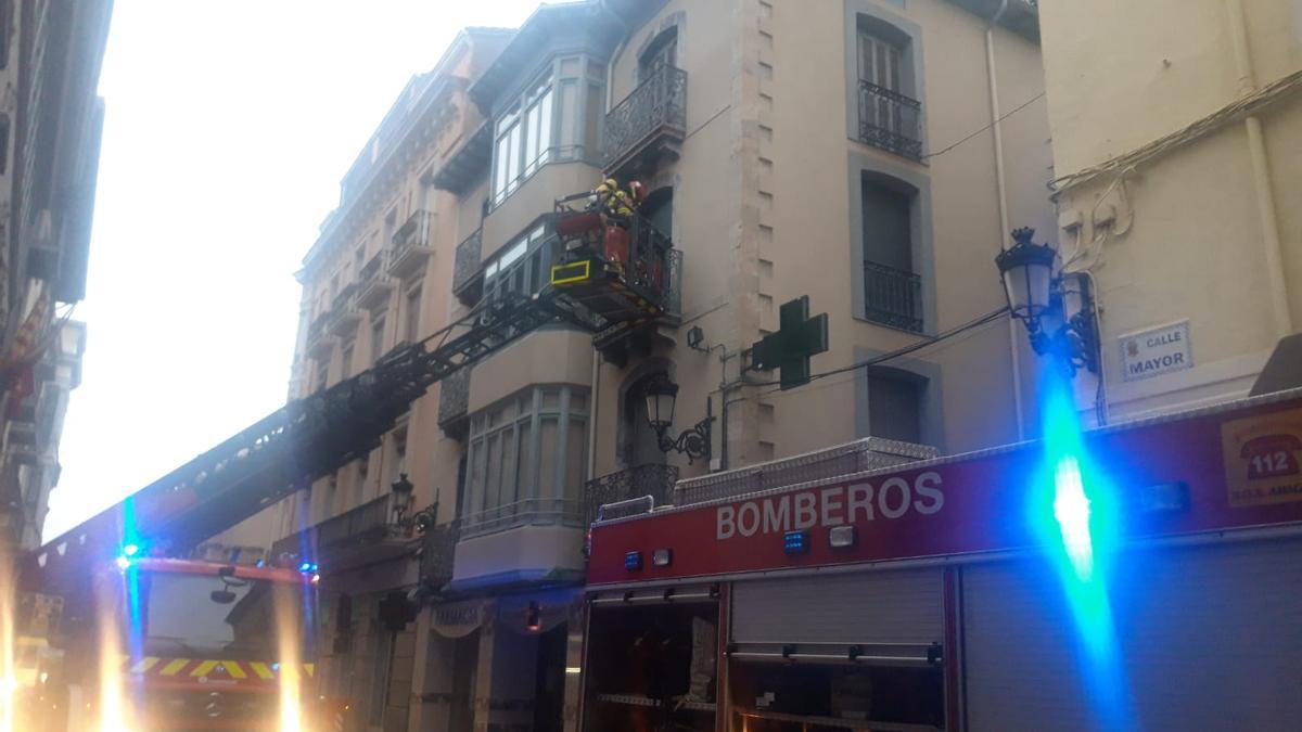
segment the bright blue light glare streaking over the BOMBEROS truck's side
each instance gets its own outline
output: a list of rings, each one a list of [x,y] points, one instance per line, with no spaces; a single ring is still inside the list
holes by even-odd
[[[1032,475],[1030,521],[1062,586],[1075,626],[1082,680],[1107,729],[1134,728],[1109,584],[1121,534],[1116,488],[1081,434],[1072,383],[1048,369],[1044,452]]]

